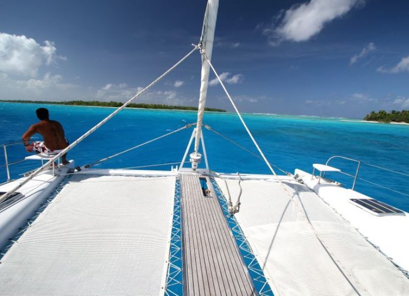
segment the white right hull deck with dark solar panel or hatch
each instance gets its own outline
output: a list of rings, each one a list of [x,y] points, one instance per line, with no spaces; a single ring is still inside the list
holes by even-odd
[[[350,221],[353,227],[379,246],[380,250],[393,258],[402,268],[409,270],[409,214],[405,216],[376,216],[349,202],[350,199],[368,199],[369,197],[351,189],[325,182],[317,184],[305,171],[296,170],[304,183],[312,188],[321,198]]]

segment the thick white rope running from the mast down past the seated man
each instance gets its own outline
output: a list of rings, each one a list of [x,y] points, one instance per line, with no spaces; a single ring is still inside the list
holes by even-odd
[[[171,72],[174,68],[176,68],[181,62],[183,62],[184,60],[186,60],[193,52],[195,52],[199,47],[195,46],[193,48],[192,51],[190,51],[185,57],[183,57],[180,61],[178,61],[176,64],[174,64],[172,67],[170,67],[166,72],[164,72],[160,77],[156,78],[156,80],[154,80],[153,82],[151,82],[147,87],[145,87],[143,90],[141,90],[140,92],[138,92],[137,94],[135,94],[133,97],[130,98],[130,100],[128,100],[124,105],[122,105],[121,107],[119,107],[118,109],[116,109],[115,111],[113,111],[111,114],[109,114],[105,119],[103,119],[102,121],[99,122],[99,124],[97,124],[95,127],[93,127],[92,129],[90,129],[89,131],[87,131],[85,134],[83,134],[81,137],[79,137],[77,140],[75,140],[74,142],[72,142],[69,146],[67,146],[66,148],[64,148],[60,153],[58,153],[56,156],[54,156],[53,158],[51,158],[47,163],[43,164],[40,168],[38,168],[33,174],[31,174],[30,176],[28,176],[26,179],[24,179],[23,181],[21,181],[17,186],[15,186],[13,189],[9,190],[7,193],[3,194],[2,196],[0,196],[0,203],[3,202],[4,200],[6,200],[7,198],[9,198],[9,196],[11,194],[13,194],[16,190],[18,190],[18,188],[20,188],[21,186],[23,186],[24,184],[26,184],[27,182],[29,182],[31,179],[33,179],[35,176],[37,176],[37,174],[44,169],[45,167],[49,166],[51,163],[53,163],[54,161],[56,161],[58,158],[60,158],[63,154],[69,152],[71,149],[73,149],[73,147],[75,147],[78,143],[80,143],[83,139],[85,139],[86,137],[88,137],[90,134],[92,134],[93,132],[95,132],[98,128],[100,128],[103,124],[105,124],[106,121],[108,121],[109,119],[111,119],[113,116],[115,116],[117,113],[119,113],[121,110],[123,110],[126,106],[128,106],[135,98],[139,97],[142,93],[144,93],[145,91],[147,91],[149,88],[151,88],[153,85],[155,85],[158,81],[160,81],[161,79],[163,79],[166,75],[169,74],[169,72]]]

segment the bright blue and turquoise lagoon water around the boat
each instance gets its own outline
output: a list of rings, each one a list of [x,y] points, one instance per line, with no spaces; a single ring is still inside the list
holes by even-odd
[[[48,108],[50,118],[61,122],[70,141],[77,139],[113,111],[112,108],[98,107],[0,103],[0,144],[19,141],[27,128],[38,121],[35,110],[39,107]],[[333,155],[342,155],[409,173],[409,126],[306,116],[245,114],[243,117],[268,160],[286,171],[294,172],[295,168],[312,171],[312,163],[325,163]],[[91,163],[195,121],[195,112],[127,109],[82,141],[69,153],[68,158],[74,159],[77,165]],[[257,153],[237,115],[207,112],[203,122]],[[181,131],[96,167],[122,168],[181,161],[191,133],[192,128]],[[204,129],[203,134],[212,170],[269,173],[260,159],[208,130]],[[41,139],[39,135],[33,139],[35,137]],[[20,144],[9,146],[8,155],[9,162],[13,162],[28,154]],[[3,152],[0,152],[0,165],[3,164]],[[355,164],[339,160],[331,162],[331,165],[350,174],[354,174],[356,167]],[[19,174],[37,166],[38,162],[35,161],[11,166],[11,177],[19,178]],[[168,170],[170,165],[153,169]],[[365,164],[361,165],[359,176],[409,194],[409,182],[405,176]],[[351,178],[339,174],[328,177],[342,182],[345,187],[352,186]],[[2,167],[0,183],[5,180],[6,170]],[[409,211],[409,196],[359,179],[355,189]]]

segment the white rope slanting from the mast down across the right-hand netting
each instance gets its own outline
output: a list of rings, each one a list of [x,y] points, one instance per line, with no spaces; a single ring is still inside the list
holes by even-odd
[[[261,157],[263,158],[264,162],[266,163],[266,165],[268,166],[268,168],[271,170],[272,174],[276,177],[277,181],[281,184],[281,186],[283,187],[284,191],[286,192],[286,194],[288,195],[289,199],[293,202],[293,204],[297,207],[298,211],[301,213],[301,215],[305,218],[305,220],[307,221],[307,224],[310,226],[312,232],[314,233],[314,235],[316,236],[316,238],[320,241],[320,243],[322,244],[322,246],[324,247],[324,249],[326,250],[326,252],[328,253],[328,255],[331,257],[331,259],[335,261],[337,263],[335,263],[335,265],[338,266],[338,268],[342,268],[345,272],[345,274],[347,274],[354,282],[355,284],[357,284],[359,287],[361,287],[361,289],[363,291],[365,291],[367,294],[370,295],[369,291],[367,289],[365,289],[365,287],[363,287],[349,272],[348,270],[345,268],[345,266],[338,260],[336,259],[335,255],[330,251],[330,249],[328,248],[328,246],[324,243],[324,241],[320,238],[320,235],[316,232],[314,226],[312,225],[310,219],[306,216],[305,211],[302,211],[300,206],[297,204],[296,201],[294,201],[293,196],[288,192],[288,190],[285,188],[284,184],[281,182],[281,180],[279,179],[279,177],[277,176],[276,172],[274,171],[274,169],[272,169],[270,163],[268,162],[268,160],[266,159],[266,157],[264,156],[264,153],[261,151],[259,145],[257,144],[256,140],[254,139],[252,133],[249,131],[249,129],[247,128],[247,125],[245,124],[243,118],[241,117],[241,114],[239,112],[239,110],[236,107],[236,104],[234,104],[234,101],[232,99],[232,97],[230,96],[229,92],[227,91],[226,87],[224,86],[223,81],[220,79],[216,69],[213,67],[213,64],[210,62],[210,60],[208,59],[208,57],[206,56],[205,50],[203,48],[200,48],[200,53],[202,54],[203,57],[206,58],[206,60],[208,61],[210,67],[212,68],[217,80],[219,81],[221,87],[223,88],[224,92],[226,93],[226,95],[228,96],[230,102],[233,105],[234,110],[236,111],[237,115],[240,118],[241,123],[243,124],[245,130],[247,131],[248,135],[250,136],[250,138],[252,139],[254,145],[256,146],[257,150],[259,151]],[[300,198],[300,197],[299,197]],[[300,199],[301,201],[301,199]],[[344,272],[342,272],[344,274]],[[348,281],[348,283],[351,285],[351,287],[354,289],[354,291],[360,295],[359,291],[354,287],[354,285],[351,283],[351,281],[345,276],[346,280]]]

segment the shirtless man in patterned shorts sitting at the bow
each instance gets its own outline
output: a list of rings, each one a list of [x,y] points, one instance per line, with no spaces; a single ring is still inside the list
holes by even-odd
[[[49,113],[46,108],[38,108],[37,114],[40,122],[32,125],[27,132],[22,135],[22,140],[26,146],[27,152],[37,152],[42,154],[51,154],[54,150],[62,150],[69,145],[64,136],[64,129],[58,121],[50,120]],[[43,142],[32,142],[30,138],[35,133],[39,133],[44,139]],[[66,160],[66,154],[62,156],[62,163],[69,163]]]

